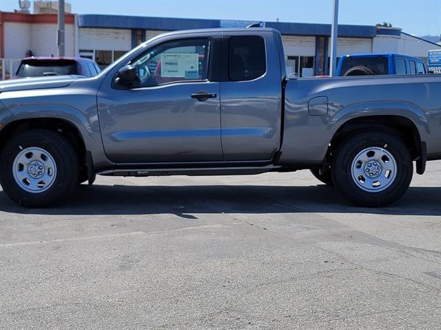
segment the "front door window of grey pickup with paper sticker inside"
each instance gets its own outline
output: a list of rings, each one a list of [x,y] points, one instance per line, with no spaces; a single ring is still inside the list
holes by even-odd
[[[208,74],[208,39],[163,43],[136,58],[136,87],[201,81]]]

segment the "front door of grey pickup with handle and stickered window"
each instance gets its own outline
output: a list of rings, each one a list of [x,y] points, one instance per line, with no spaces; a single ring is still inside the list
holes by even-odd
[[[213,36],[174,38],[130,61],[139,80],[133,87],[115,88],[117,76],[103,83],[99,120],[112,162],[223,160],[220,83],[209,79]]]

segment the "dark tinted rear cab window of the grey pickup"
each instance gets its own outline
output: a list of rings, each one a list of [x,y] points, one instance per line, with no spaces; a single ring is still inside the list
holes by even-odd
[[[261,36],[232,36],[229,39],[229,80],[254,80],[267,72],[265,41]]]

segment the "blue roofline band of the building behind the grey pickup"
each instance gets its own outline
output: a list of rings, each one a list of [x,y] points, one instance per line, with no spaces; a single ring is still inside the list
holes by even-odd
[[[80,28],[114,28],[139,30],[192,30],[207,28],[245,28],[250,21],[220,19],[178,19],[168,17],[136,17],[122,15],[81,14]],[[331,36],[330,24],[265,22],[285,35]],[[338,36],[353,38],[375,38],[377,29],[370,25],[338,25]]]

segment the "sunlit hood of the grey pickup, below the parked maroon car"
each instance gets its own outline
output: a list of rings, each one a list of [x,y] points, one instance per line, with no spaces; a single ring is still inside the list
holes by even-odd
[[[0,81],[0,93],[3,91],[67,87],[80,77],[81,76],[50,76],[4,80]]]

